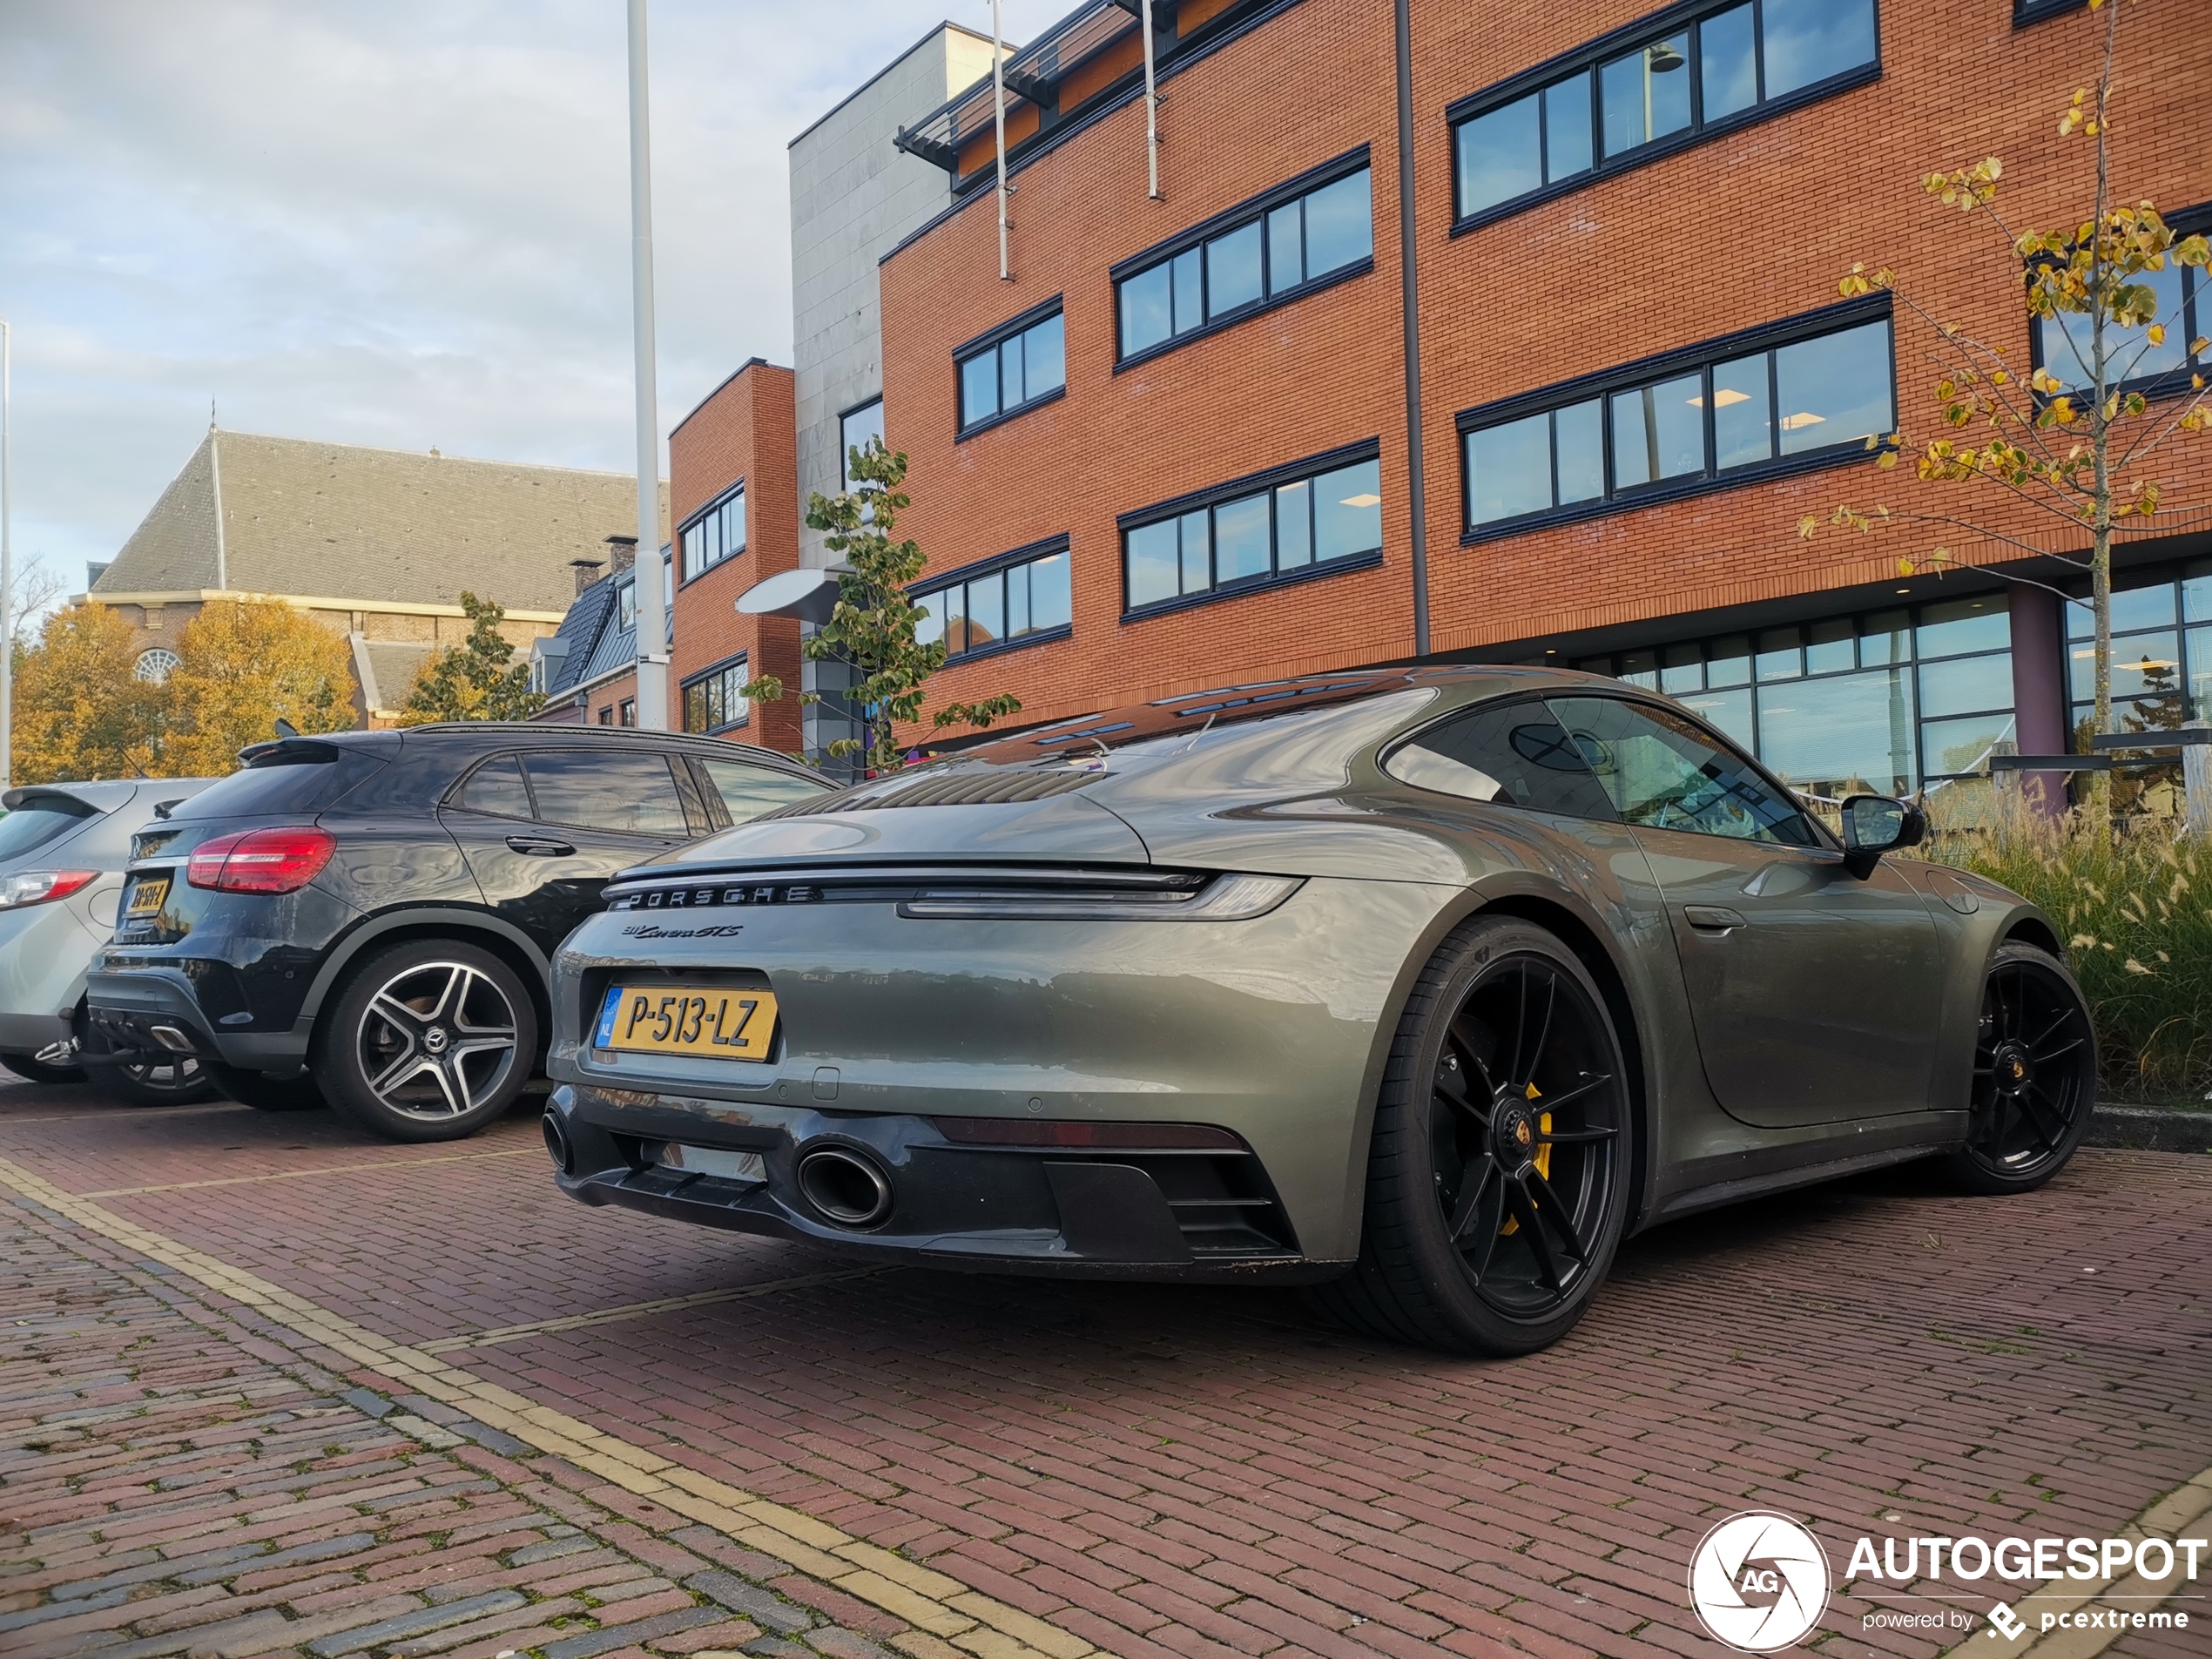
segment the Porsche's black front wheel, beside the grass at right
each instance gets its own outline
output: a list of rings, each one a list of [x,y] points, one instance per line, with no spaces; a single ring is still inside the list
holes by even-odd
[[[2095,1106],[2088,998],[2051,951],[2000,945],[1973,1033],[1966,1144],[1944,1168],[1966,1192],[2033,1192],[2066,1168]]]

